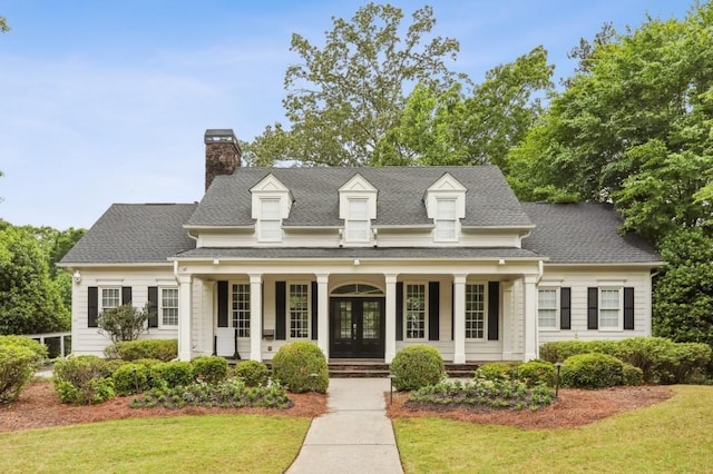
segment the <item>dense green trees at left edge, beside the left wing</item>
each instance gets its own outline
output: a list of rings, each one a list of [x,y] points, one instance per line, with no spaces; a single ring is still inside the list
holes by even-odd
[[[0,334],[66,330],[64,306],[39,245],[23,229],[0,230]]]

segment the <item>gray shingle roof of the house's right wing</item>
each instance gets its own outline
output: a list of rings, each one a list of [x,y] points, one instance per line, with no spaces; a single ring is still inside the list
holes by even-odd
[[[622,236],[619,215],[608,204],[522,203],[535,223],[522,247],[550,263],[656,263],[661,257],[638,235]]]

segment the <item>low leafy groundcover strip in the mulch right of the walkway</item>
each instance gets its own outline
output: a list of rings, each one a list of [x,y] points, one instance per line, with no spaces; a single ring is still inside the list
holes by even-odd
[[[442,381],[434,385],[426,385],[409,394],[409,405],[427,406],[486,406],[496,409],[538,409],[550,405],[555,399],[555,391],[546,385],[528,388],[527,384],[517,379],[476,377],[472,382]]]

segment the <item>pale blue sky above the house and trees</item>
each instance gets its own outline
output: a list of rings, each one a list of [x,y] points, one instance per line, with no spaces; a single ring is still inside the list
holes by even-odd
[[[251,140],[284,122],[292,32],[321,43],[363,1],[0,0],[0,218],[90,227],[111,203],[203,196],[206,128]],[[393,1],[410,14],[421,1]],[[538,45],[566,53],[605,21],[683,18],[685,0],[431,0],[453,70],[485,72]]]

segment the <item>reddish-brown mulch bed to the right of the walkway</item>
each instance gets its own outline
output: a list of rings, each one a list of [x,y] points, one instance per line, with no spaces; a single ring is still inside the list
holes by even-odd
[[[586,425],[617,413],[654,405],[671,398],[667,386],[613,387],[598,391],[564,388],[557,401],[536,412],[482,407],[423,405],[409,402],[408,394],[387,394],[390,418],[437,416],[461,422],[510,425],[522,428],[568,428]]]

